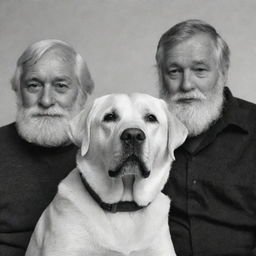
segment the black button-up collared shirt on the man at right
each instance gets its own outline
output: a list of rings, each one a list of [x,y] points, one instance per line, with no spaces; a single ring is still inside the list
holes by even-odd
[[[256,255],[256,105],[224,92],[222,117],[175,151],[164,189],[179,256]]]

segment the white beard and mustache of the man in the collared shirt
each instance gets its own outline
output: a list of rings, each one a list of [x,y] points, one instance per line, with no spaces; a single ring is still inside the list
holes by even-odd
[[[220,79],[219,79],[220,80]],[[177,93],[167,99],[170,112],[187,127],[188,136],[194,137],[208,130],[210,126],[221,117],[224,103],[223,85],[218,82],[213,92],[208,96],[198,90],[187,93]],[[199,99],[193,103],[181,103],[180,98]]]

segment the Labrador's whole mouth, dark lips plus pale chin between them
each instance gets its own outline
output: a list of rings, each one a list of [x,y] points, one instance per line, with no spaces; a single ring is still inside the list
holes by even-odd
[[[138,174],[147,178],[150,175],[150,170],[138,156],[132,154],[125,158],[114,170],[109,170],[108,174],[112,178]]]

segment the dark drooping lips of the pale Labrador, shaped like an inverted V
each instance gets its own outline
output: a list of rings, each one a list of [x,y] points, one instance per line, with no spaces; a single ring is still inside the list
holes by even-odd
[[[148,178],[150,170],[146,167],[145,163],[136,155],[132,154],[122,161],[114,170],[109,170],[108,174],[110,177],[115,178],[122,175],[123,168],[130,162],[136,163],[139,166],[142,177]]]

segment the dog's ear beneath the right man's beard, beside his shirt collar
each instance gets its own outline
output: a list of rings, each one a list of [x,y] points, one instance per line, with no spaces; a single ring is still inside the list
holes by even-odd
[[[168,150],[173,160],[174,150],[186,140],[188,130],[185,125],[172,113],[168,113]]]

